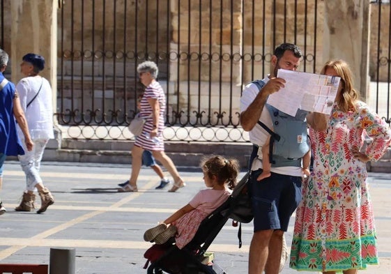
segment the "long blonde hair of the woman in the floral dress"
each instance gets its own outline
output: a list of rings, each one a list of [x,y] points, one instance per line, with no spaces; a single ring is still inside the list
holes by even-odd
[[[337,95],[337,105],[342,112],[355,111],[355,102],[358,100],[358,92],[353,88],[353,75],[348,63],[344,60],[331,60],[325,63],[321,74],[325,74],[328,68],[334,68],[337,76],[341,77],[342,90]]]

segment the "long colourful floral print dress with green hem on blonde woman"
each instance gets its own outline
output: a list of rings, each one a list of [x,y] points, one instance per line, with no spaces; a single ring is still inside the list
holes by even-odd
[[[371,143],[365,155],[381,158],[391,144],[388,125],[364,102],[356,112],[332,108],[325,132],[309,130],[314,171],[302,186],[296,210],[290,267],[298,271],[343,271],[378,264],[374,215],[364,162],[351,149]]]

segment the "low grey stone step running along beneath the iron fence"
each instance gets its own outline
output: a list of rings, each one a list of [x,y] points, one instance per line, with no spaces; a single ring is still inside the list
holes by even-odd
[[[43,160],[59,162],[102,162],[131,164],[134,142],[116,140],[63,139],[61,146],[50,140]],[[217,142],[164,142],[165,152],[178,167],[199,167],[202,158],[224,155],[236,158],[242,169],[247,168],[252,144]],[[369,172],[391,173],[391,148],[381,160],[368,162]]]

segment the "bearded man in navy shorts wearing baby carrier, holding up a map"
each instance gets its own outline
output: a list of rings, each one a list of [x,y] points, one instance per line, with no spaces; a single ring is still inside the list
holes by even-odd
[[[284,263],[286,259],[286,257],[280,259],[283,235],[288,229],[292,213],[302,199],[301,159],[309,151],[305,119],[308,112],[298,108],[301,107],[302,102],[306,102],[304,104],[307,105],[306,108],[308,105],[317,105],[312,104],[315,100],[318,105],[313,107],[314,111],[319,108],[319,100],[322,96],[330,97],[330,90],[325,92],[322,88],[318,93],[321,96],[309,94],[306,98],[304,98],[305,92],[300,90],[302,93],[299,95],[300,102],[294,106],[296,107],[296,112],[293,111],[295,113],[289,111],[291,114],[266,103],[269,97],[280,96],[279,92],[286,89],[287,81],[283,77],[277,77],[279,69],[283,69],[284,72],[295,72],[300,65],[301,57],[302,53],[296,45],[284,43],[276,47],[270,60],[273,66],[272,73],[261,81],[247,84],[240,98],[240,123],[243,129],[249,132],[250,141],[254,144],[250,158],[252,172],[249,187],[254,213],[254,234],[250,245],[249,274],[259,274],[263,271],[266,274],[278,273],[280,262]],[[330,79],[325,80],[326,85],[327,82],[330,82]],[[297,96],[294,95],[296,92],[297,89],[292,91],[293,95],[284,95],[284,98],[277,98],[277,101],[291,102],[292,97]],[[325,105],[328,104],[328,100],[329,98],[323,100]],[[314,117],[317,118],[317,116]],[[319,115],[319,117],[324,117],[324,115]],[[259,126],[261,124],[259,122],[263,125]],[[325,121],[321,122],[325,123]],[[274,132],[277,133],[276,136],[273,135]],[[261,148],[270,135],[275,141],[270,143],[271,174],[257,181],[263,171]]]

